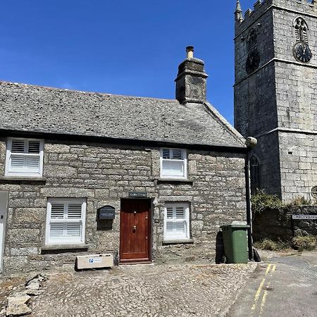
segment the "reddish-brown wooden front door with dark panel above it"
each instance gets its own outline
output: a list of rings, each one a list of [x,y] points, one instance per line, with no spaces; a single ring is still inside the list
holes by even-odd
[[[150,261],[150,199],[122,199],[120,262]]]

